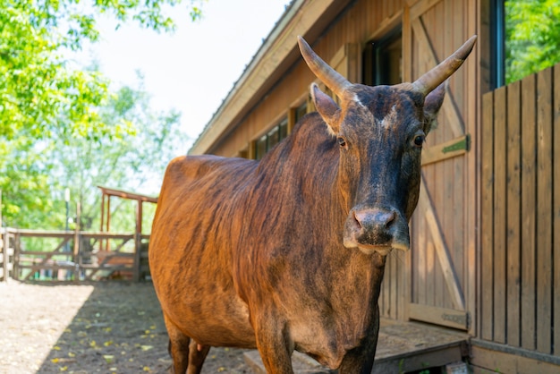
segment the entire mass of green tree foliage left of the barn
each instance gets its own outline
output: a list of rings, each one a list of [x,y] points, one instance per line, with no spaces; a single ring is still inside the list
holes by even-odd
[[[64,194],[60,191],[70,178],[72,183],[74,178],[80,181],[72,195],[80,196],[87,205],[95,203],[85,197],[97,190],[95,183],[121,183],[119,174],[140,176],[115,186],[139,186],[143,175],[150,175],[145,165],[139,165],[140,159],[154,169],[161,167],[152,160],[157,149],[171,149],[164,142],[173,139],[170,133],[176,132],[172,128],[178,115],[151,113],[141,88],[112,92],[110,82],[97,69],[72,68],[64,53],[98,40],[96,19],[101,13],[113,14],[122,23],[135,21],[151,30],[172,31],[172,6],[183,3],[194,21],[200,17],[203,2],[0,0],[4,225],[64,227]],[[145,126],[152,120],[152,127]],[[176,135],[174,139],[180,140]],[[154,152],[148,150],[147,157],[139,158],[146,149]],[[64,169],[70,168],[71,159],[72,173]],[[116,164],[118,167],[110,168]]]

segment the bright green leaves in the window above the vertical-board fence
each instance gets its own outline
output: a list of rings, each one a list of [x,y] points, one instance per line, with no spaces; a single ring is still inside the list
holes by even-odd
[[[560,62],[560,1],[505,2],[505,81]]]

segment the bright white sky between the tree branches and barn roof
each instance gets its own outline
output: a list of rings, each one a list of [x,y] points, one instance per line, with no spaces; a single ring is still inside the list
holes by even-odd
[[[101,21],[102,40],[87,53],[117,84],[134,85],[140,70],[153,108],[182,112],[182,129],[191,138],[186,152],[286,4],[289,0],[208,0],[200,21],[192,22],[186,10],[177,9],[173,35],[134,25],[115,30],[115,22]]]

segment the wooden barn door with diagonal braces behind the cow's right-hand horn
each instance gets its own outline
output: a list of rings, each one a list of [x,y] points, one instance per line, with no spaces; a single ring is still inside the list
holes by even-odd
[[[464,30],[468,2],[411,0],[404,15],[403,67],[409,81],[441,62],[470,37]],[[472,58],[472,57],[471,57]],[[408,67],[408,71],[406,71]],[[409,319],[468,330],[474,288],[469,235],[473,177],[471,134],[463,112],[468,106],[464,66],[447,82],[438,126],[422,151],[420,200],[412,217]],[[405,76],[406,78],[406,76]]]

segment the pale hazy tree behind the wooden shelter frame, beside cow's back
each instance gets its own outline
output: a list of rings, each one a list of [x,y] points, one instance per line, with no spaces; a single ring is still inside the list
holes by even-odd
[[[142,191],[157,196],[159,183],[167,163],[182,154],[186,136],[179,129],[180,115],[176,112],[156,113],[150,110],[148,94],[139,87],[123,87],[100,108],[99,115],[105,123],[133,123],[134,132],[120,137],[105,136],[98,141],[83,138],[60,137],[50,149],[48,158],[51,185],[58,191],[71,190],[72,201],[81,203],[81,228],[99,229],[101,193],[96,186]],[[112,230],[134,229],[135,201],[112,198],[112,208],[119,211],[112,221]],[[152,204],[144,208],[153,209]],[[73,211],[73,209],[72,209]],[[144,225],[148,229],[148,225]],[[147,230],[145,230],[147,231]]]

